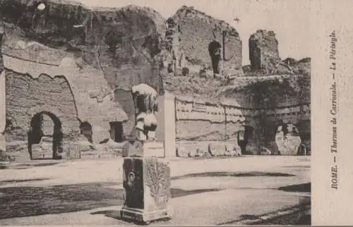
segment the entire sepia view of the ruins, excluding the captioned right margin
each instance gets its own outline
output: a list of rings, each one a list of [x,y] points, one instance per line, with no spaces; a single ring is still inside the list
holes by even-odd
[[[0,0],[0,225],[311,225],[310,6]]]

